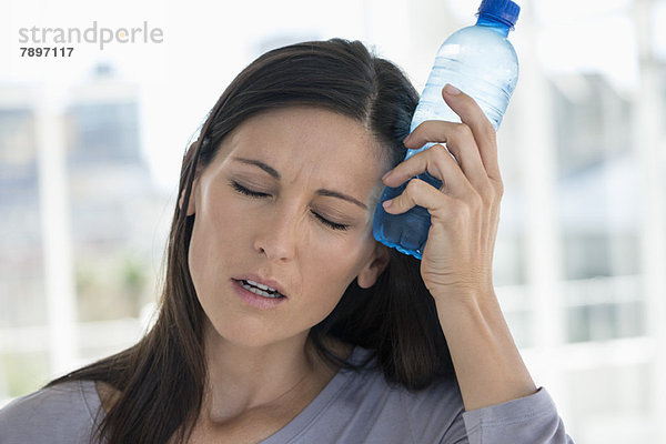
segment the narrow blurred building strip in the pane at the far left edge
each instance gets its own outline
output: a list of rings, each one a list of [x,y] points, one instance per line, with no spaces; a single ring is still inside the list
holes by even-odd
[[[30,92],[8,85],[0,94],[0,326],[46,319],[34,110],[26,99]]]

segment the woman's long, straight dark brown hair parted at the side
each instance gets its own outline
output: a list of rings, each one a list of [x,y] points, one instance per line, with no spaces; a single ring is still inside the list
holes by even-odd
[[[394,167],[405,155],[402,140],[417,100],[405,74],[359,41],[304,42],[266,52],[231,82],[189,147],[180,176],[182,209],[188,208],[195,174],[213,159],[224,137],[260,111],[305,104],[343,113],[372,131]],[[97,431],[109,443],[184,442],[201,410],[205,314],[188,265],[195,215],[185,213],[175,205],[153,327],[134,346],[48,384],[93,380],[117,389],[120,397]],[[309,339],[317,352],[332,364],[356,369],[329,350],[324,339],[370,349],[387,381],[410,390],[444,375],[454,377],[420,265],[391,249],[390,263],[375,285],[361,289],[354,281],[333,312],[312,327]]]

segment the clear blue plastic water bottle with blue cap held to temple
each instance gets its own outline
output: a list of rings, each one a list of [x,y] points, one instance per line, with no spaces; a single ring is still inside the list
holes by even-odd
[[[442,43],[410,132],[425,120],[461,121],[442,98],[442,88],[446,83],[476,100],[497,131],[518,79],[516,52],[507,36],[519,11],[521,8],[511,0],[483,0],[476,24],[454,32]],[[432,145],[427,143],[418,150],[408,150],[405,160]],[[442,186],[442,182],[427,172],[418,179],[437,189]],[[398,188],[386,186],[381,202],[400,195],[407,182]],[[422,206],[402,214],[389,214],[380,204],[374,214],[373,235],[387,246],[421,259],[430,225],[430,213]]]

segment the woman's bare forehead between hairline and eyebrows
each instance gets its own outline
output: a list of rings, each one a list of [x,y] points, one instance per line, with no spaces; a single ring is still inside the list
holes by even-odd
[[[223,142],[225,154],[254,157],[280,172],[374,176],[383,149],[360,122],[320,108],[291,107],[253,115]]]

